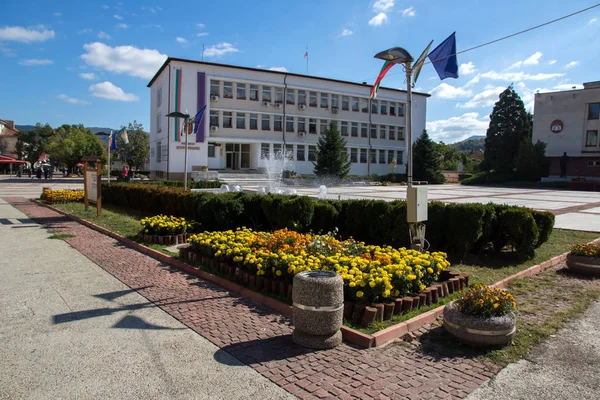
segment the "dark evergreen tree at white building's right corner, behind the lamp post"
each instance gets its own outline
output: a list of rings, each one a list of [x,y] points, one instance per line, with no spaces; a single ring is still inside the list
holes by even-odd
[[[441,154],[438,145],[429,138],[427,129],[413,145],[413,180],[429,183],[444,183],[440,173]]]

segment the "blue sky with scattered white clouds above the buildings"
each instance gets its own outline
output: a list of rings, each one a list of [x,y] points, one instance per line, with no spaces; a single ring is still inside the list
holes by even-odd
[[[171,4],[171,5],[170,5]],[[416,58],[456,31],[461,51],[593,5],[546,0],[27,1],[4,0],[0,24],[0,118],[17,124],[149,127],[146,87],[166,56],[306,72],[349,81],[376,78],[373,55],[402,46]],[[176,8],[175,8],[176,7]],[[4,25],[2,25],[4,24]],[[423,68],[435,140],[485,134],[509,84],[533,94],[600,80],[600,7],[458,56],[460,77]],[[594,73],[595,72],[595,73]],[[383,86],[405,87],[401,67]]]

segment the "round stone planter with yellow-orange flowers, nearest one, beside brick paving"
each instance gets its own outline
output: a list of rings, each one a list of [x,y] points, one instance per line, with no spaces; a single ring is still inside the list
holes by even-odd
[[[475,285],[444,307],[444,328],[471,346],[505,346],[516,333],[516,307],[506,290]]]

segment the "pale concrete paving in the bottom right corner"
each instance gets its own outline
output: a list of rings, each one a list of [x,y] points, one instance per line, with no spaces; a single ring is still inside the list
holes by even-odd
[[[600,302],[467,400],[600,399]]]

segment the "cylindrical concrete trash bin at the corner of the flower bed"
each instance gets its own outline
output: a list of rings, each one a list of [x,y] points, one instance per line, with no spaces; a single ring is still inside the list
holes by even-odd
[[[296,344],[330,349],[342,342],[344,281],[335,272],[304,271],[294,276],[292,292]]]

